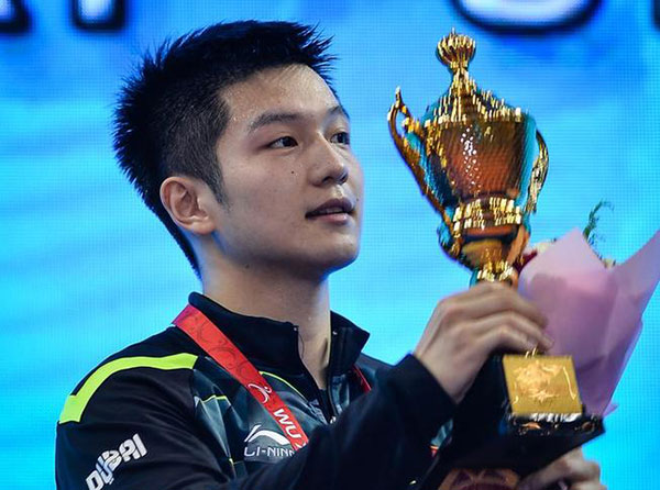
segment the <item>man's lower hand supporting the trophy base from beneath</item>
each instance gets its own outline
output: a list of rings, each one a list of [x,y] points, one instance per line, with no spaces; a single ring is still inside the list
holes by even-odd
[[[605,486],[601,483],[601,467],[597,463],[584,459],[581,448],[566,453],[518,483],[518,490],[548,490],[554,488],[606,490]]]

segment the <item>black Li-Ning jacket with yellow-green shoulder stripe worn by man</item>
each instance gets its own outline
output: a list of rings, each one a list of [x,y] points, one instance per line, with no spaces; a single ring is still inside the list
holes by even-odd
[[[232,313],[197,293],[189,300],[262,371],[309,444],[294,454],[268,412],[169,327],[101,363],[67,399],[58,489],[387,490],[428,468],[453,404],[413,356],[389,368],[362,355],[369,334],[333,313],[321,391],[300,360],[295,325]]]

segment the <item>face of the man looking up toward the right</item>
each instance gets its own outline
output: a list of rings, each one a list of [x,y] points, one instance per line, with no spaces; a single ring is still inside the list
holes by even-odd
[[[363,176],[348,116],[306,66],[260,71],[221,94],[217,244],[244,267],[324,277],[355,259]]]

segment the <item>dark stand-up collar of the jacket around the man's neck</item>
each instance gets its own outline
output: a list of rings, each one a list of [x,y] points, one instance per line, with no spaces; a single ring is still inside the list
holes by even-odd
[[[213,322],[253,364],[290,374],[305,372],[298,354],[297,325],[234,313],[197,292],[190,293],[188,301]],[[369,333],[334,312],[330,316],[330,375],[343,375],[355,365]]]

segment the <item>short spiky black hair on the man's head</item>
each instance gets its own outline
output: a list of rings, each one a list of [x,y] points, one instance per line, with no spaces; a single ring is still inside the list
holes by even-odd
[[[114,112],[114,151],[147,208],[165,224],[199,276],[190,243],[160,197],[173,175],[204,180],[222,202],[215,146],[229,108],[221,90],[266,68],[306,65],[331,85],[330,38],[290,22],[219,23],[163,43],[125,80]]]

